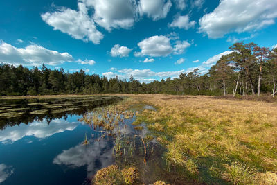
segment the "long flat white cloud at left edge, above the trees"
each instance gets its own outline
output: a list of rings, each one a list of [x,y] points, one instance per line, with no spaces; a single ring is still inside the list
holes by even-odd
[[[6,62],[15,65],[49,65],[62,64],[73,61],[73,57],[67,53],[46,49],[37,44],[30,44],[25,48],[16,48],[6,42],[0,41],[0,62]]]

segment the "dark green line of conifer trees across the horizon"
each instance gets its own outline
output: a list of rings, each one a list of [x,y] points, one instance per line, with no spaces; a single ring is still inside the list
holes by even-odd
[[[0,95],[38,94],[192,94],[242,96],[270,93],[274,96],[277,79],[277,48],[260,47],[253,42],[235,43],[232,53],[222,55],[208,73],[195,69],[181,73],[179,78],[139,82],[107,78],[98,74],[88,75],[81,69],[75,73],[64,69],[39,69],[0,64]]]

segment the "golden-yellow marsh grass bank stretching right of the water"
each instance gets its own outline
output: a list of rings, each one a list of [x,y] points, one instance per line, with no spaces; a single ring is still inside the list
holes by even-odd
[[[138,115],[166,147],[168,170],[207,184],[277,183],[277,104],[211,96],[138,95]]]

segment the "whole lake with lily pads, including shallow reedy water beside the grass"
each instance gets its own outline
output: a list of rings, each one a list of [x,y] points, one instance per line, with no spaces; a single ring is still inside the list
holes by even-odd
[[[153,175],[161,172],[155,169],[161,166],[162,149],[149,139],[148,164],[143,163],[140,136],[148,130],[145,125],[134,129],[134,114],[120,121],[117,138],[80,121],[84,114],[120,100],[119,96],[1,100],[0,183],[91,184],[97,170],[111,164],[136,164],[141,182],[152,183]]]

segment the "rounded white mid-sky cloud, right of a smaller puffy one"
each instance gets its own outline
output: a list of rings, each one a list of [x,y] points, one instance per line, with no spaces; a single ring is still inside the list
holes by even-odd
[[[141,52],[134,53],[135,56],[149,55],[152,57],[168,56],[172,53],[170,39],[163,35],[155,35],[139,42]]]

